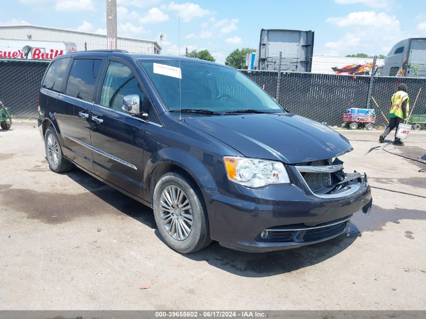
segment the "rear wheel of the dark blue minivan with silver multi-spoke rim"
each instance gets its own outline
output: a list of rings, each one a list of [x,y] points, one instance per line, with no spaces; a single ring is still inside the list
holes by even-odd
[[[50,170],[55,173],[63,173],[73,168],[73,164],[64,157],[56,132],[52,126],[49,126],[44,134],[44,149]]]

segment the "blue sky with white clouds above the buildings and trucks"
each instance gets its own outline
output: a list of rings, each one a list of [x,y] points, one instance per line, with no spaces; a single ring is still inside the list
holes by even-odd
[[[0,24],[34,24],[106,33],[105,0],[0,0]],[[421,0],[117,0],[118,36],[156,40],[163,54],[209,49],[218,62],[256,48],[260,29],[315,31],[314,54],[387,54],[399,40],[426,37]],[[66,41],[66,39],[64,39]]]

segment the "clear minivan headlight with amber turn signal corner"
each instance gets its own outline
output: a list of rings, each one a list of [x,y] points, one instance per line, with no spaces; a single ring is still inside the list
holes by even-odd
[[[223,157],[228,179],[248,187],[288,184],[290,178],[281,162],[247,157]]]

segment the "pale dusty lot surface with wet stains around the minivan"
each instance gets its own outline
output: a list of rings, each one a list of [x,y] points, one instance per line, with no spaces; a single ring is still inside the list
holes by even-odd
[[[426,196],[426,165],[364,155],[380,132],[341,132],[354,147],[347,171]],[[151,209],[79,169],[51,172],[35,121],[15,120],[0,145],[0,309],[426,309],[425,198],[374,188],[371,215],[330,241],[182,255]],[[426,133],[387,149],[426,160]]]

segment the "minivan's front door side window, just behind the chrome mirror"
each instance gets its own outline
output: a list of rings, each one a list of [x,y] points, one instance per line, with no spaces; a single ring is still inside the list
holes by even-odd
[[[110,61],[102,83],[100,105],[122,110],[123,98],[126,95],[137,94],[141,99],[141,111],[147,112],[149,105],[138,80],[132,71],[123,63]]]

